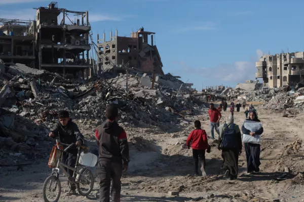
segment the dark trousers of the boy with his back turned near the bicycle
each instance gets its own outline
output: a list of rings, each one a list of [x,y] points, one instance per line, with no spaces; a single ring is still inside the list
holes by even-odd
[[[121,194],[121,178],[123,174],[122,162],[100,161],[98,163],[98,177],[99,177],[99,201],[110,201],[110,188],[111,199],[115,202],[120,202]],[[110,187],[112,184],[112,187]]]

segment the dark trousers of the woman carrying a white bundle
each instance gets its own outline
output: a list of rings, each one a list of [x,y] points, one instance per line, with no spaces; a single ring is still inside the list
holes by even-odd
[[[244,143],[247,161],[247,172],[259,172],[261,147],[259,144]]]

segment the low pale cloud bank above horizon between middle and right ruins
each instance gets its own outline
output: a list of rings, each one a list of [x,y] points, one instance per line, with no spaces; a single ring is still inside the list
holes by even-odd
[[[233,64],[221,64],[213,68],[191,68],[183,61],[174,62],[182,67],[183,71],[201,75],[202,77],[208,77],[214,79],[216,82],[233,82],[244,83],[245,80],[255,79],[255,62],[256,59],[263,53],[260,49],[255,51],[256,57],[249,59],[248,61],[237,61]]]

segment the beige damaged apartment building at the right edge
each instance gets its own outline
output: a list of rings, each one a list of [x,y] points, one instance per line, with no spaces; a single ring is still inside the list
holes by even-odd
[[[255,77],[270,88],[304,84],[304,52],[265,55],[255,66]]]

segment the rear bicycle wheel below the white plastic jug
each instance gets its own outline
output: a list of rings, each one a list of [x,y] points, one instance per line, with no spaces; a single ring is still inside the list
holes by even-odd
[[[93,190],[94,176],[93,173],[86,168],[82,168],[77,175],[77,190],[80,195],[88,196]]]

